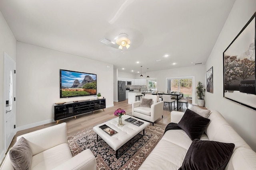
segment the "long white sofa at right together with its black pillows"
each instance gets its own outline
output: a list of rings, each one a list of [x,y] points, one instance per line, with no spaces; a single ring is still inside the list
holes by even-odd
[[[206,117],[210,119],[210,122],[199,140],[192,141],[180,127],[168,130],[139,170],[256,170],[256,152],[234,131],[218,111],[211,110],[209,113],[210,115]],[[185,116],[184,112],[179,111],[172,111],[170,114],[173,125],[178,125]],[[189,125],[190,122],[193,120],[187,117],[185,124]],[[207,145],[201,145],[202,143]],[[227,156],[228,152],[229,156]],[[198,168],[200,166],[201,168]]]

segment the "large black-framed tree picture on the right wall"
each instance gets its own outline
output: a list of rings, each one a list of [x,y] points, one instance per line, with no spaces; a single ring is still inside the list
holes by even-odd
[[[223,96],[256,110],[255,16],[223,52]]]

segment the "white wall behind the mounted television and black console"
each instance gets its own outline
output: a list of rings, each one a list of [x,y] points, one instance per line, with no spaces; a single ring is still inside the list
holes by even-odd
[[[96,96],[60,98],[60,69],[97,74],[97,92],[106,98],[106,107],[114,106],[112,64],[18,42],[16,72],[18,130],[53,121],[53,104],[56,102],[96,98]]]

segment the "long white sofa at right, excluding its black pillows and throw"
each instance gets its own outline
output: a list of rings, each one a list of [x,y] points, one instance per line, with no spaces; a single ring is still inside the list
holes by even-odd
[[[171,122],[179,123],[184,112],[172,111]],[[232,156],[225,170],[256,170],[256,152],[234,131],[224,117],[212,110],[210,123],[201,140],[234,143]],[[146,158],[139,170],[178,170],[192,143],[182,129],[166,131],[162,139]]]

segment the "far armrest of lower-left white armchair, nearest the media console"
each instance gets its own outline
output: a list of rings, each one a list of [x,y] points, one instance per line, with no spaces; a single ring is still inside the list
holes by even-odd
[[[67,143],[67,124],[64,122],[20,135],[17,137],[17,141],[21,137],[24,137],[28,141],[34,156],[44,150],[48,150],[62,143]]]

